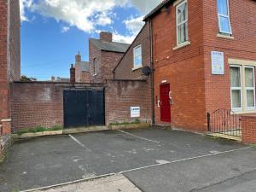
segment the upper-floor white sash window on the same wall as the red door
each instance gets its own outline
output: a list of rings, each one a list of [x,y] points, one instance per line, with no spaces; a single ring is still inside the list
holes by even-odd
[[[189,40],[188,33],[188,3],[183,1],[176,8],[177,20],[177,44],[183,44]]]

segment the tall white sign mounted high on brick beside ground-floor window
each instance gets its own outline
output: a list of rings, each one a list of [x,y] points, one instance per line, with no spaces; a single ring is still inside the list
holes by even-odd
[[[224,74],[224,52],[212,51],[212,74]]]

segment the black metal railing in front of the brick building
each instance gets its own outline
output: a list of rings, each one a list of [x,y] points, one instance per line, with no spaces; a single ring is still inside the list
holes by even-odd
[[[224,135],[241,137],[240,115],[230,109],[218,109],[207,113],[208,131]]]

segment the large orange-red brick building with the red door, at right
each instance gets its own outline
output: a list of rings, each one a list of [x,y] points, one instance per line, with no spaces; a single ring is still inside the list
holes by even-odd
[[[255,10],[253,0],[166,0],[144,18],[156,123],[207,131],[207,113],[219,108],[256,113]]]

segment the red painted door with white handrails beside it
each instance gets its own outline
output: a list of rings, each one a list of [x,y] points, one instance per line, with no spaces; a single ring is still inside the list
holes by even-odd
[[[170,106],[170,84],[160,84],[160,115],[161,121],[171,123],[171,106]]]

